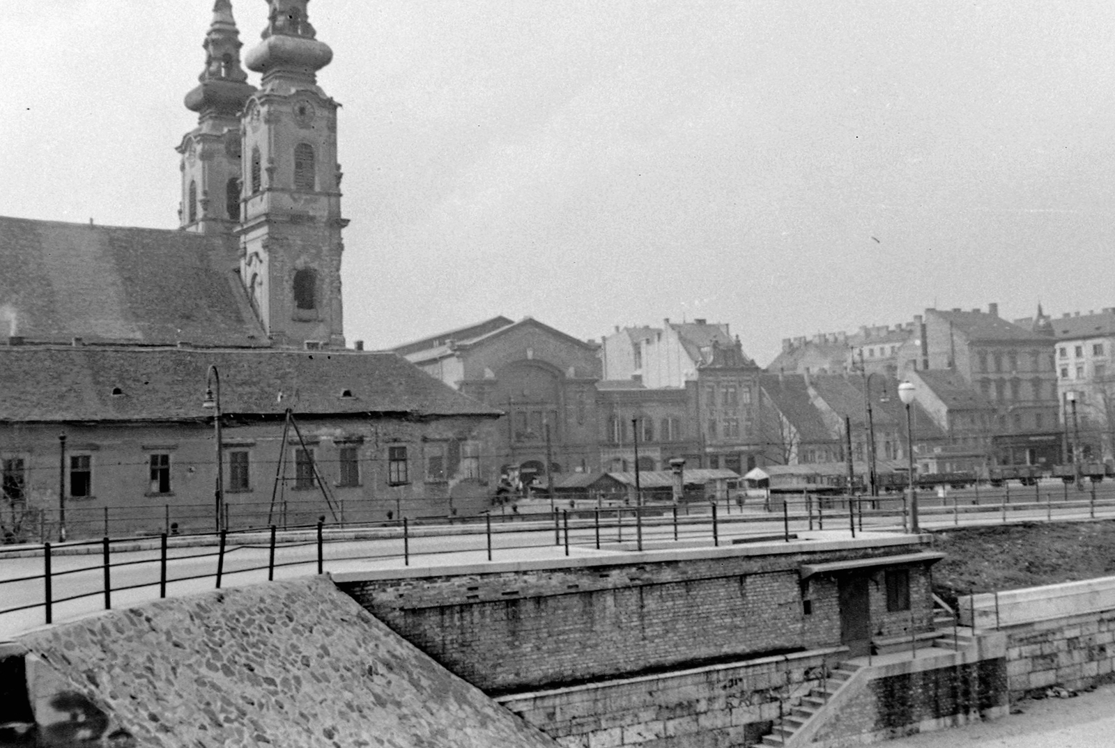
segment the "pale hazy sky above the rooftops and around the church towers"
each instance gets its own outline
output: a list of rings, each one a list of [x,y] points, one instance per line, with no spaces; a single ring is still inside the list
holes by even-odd
[[[173,229],[212,0],[8,3],[0,214]],[[233,0],[244,52],[264,0]],[[312,0],[349,341],[1115,305],[1115,3]],[[250,81],[259,84],[252,74]]]

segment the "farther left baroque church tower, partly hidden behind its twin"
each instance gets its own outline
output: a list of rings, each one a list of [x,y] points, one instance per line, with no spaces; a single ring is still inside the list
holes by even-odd
[[[240,113],[255,93],[240,67],[240,32],[229,0],[216,0],[205,35],[205,69],[186,95],[197,127],[177,147],[182,154],[180,225],[197,233],[231,234],[240,223]]]

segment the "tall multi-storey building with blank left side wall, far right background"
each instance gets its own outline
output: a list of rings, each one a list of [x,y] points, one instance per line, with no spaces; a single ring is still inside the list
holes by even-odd
[[[1040,320],[1029,329],[987,311],[927,309],[917,369],[959,373],[995,406],[989,424],[993,462],[1051,467],[1061,462],[1053,331]]]

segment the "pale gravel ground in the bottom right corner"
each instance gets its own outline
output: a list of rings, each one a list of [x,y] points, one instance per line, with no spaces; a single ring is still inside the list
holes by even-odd
[[[1115,745],[1115,686],[1070,699],[1018,705],[1021,715],[882,744],[886,748],[1109,748]]]

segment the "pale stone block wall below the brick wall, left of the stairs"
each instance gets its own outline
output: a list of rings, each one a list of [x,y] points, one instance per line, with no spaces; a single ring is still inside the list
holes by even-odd
[[[844,653],[760,658],[497,701],[568,748],[750,746]]]

